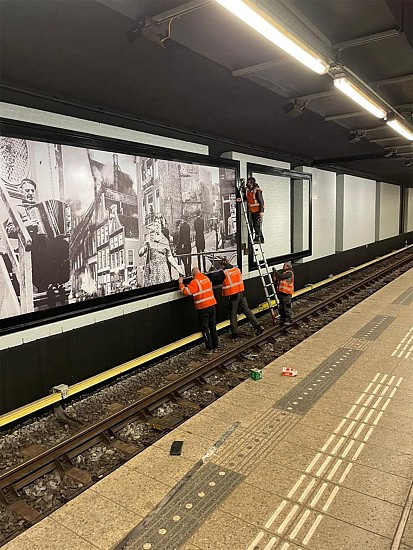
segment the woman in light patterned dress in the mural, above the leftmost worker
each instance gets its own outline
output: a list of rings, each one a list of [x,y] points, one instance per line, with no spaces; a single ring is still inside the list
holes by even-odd
[[[143,272],[143,286],[159,285],[171,280],[169,264],[183,275],[172,256],[168,239],[162,233],[162,219],[155,217],[153,230],[147,235],[145,244],[139,250],[139,256],[146,256]]]

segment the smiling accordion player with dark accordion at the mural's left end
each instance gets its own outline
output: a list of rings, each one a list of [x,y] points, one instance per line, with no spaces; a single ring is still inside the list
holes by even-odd
[[[15,209],[32,239],[32,281],[35,290],[45,292],[50,286],[69,279],[69,245],[63,236],[49,239],[36,208],[36,183],[23,179],[20,184],[22,202]],[[10,238],[17,238],[17,228],[11,220],[5,223]]]

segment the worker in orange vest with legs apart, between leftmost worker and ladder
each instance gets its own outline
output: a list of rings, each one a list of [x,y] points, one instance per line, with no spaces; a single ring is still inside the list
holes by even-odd
[[[264,327],[261,326],[255,315],[248,306],[247,299],[244,293],[244,283],[242,281],[241,271],[238,267],[233,266],[226,258],[221,262],[222,271],[209,273],[208,276],[213,282],[222,283],[222,295],[228,297],[229,304],[229,319],[231,324],[232,338],[238,338],[238,310],[244,313],[247,320],[254,327],[255,333],[261,334],[264,332]]]

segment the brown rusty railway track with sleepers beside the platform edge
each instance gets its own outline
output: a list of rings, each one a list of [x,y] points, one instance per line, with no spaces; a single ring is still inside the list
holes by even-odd
[[[397,272],[404,272],[413,266],[413,255],[402,254],[397,261],[387,262],[379,272],[346,285],[337,290],[334,285],[330,289],[324,289],[324,294],[329,294],[321,299],[317,294],[306,296],[308,305],[295,315],[294,323],[289,327],[283,325],[270,326],[260,336],[241,342],[236,347],[223,353],[212,356],[208,362],[197,365],[183,375],[170,375],[169,381],[160,389],[143,388],[137,395],[137,399],[130,405],[120,408],[106,416],[104,419],[92,425],[82,426],[79,422],[75,427],[75,433],[61,443],[42,450],[28,460],[9,468],[0,474],[0,503],[3,510],[18,517],[16,529],[8,529],[6,538],[0,540],[0,544],[11,540],[20,531],[36,523],[50,514],[54,508],[39,510],[31,506],[25,500],[24,488],[43,476],[58,471],[61,476],[70,478],[76,482],[76,489],[72,491],[71,498],[76,496],[91,484],[93,476],[85,469],[78,466],[76,457],[97,444],[104,444],[121,453],[124,460],[142,450],[142,445],[137,446],[123,441],[119,433],[134,422],[149,424],[157,435],[153,440],[161,437],[174,429],[189,416],[196,414],[200,409],[196,400],[188,398],[193,388],[197,392],[209,392],[214,398],[219,398],[232,387],[245,380],[249,375],[253,361],[257,356],[266,356],[264,363],[274,359],[271,356],[271,348],[279,344],[280,340],[288,339],[287,349],[293,347],[324,326],[332,319],[341,315],[353,307],[356,303],[369,296],[372,292],[384,286],[390,279],[397,276]],[[312,304],[312,302],[314,302]],[[327,314],[327,319],[325,315]],[[324,316],[324,318],[323,318]],[[292,343],[292,345],[290,345]],[[270,351],[268,352],[268,349]],[[234,368],[234,365],[242,365],[243,368]],[[211,383],[211,380],[214,383]],[[169,414],[163,417],[156,415],[159,407],[165,403],[172,403],[175,407]],[[67,417],[63,414],[63,421]],[[151,444],[146,442],[146,446]],[[109,473],[109,472],[105,472]],[[9,522],[10,525],[12,522]]]

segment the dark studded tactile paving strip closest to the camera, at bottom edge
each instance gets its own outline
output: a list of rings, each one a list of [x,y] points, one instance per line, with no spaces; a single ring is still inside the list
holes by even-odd
[[[204,465],[146,528],[138,525],[116,550],[180,548],[243,479],[222,466]]]

